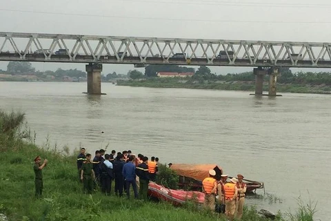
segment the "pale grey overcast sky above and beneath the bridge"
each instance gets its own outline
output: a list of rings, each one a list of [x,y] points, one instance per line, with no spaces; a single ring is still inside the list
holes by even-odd
[[[327,0],[0,0],[0,31],[231,40],[330,42]],[[7,62],[0,61],[6,70]],[[39,70],[83,64],[34,63]],[[132,65],[103,65],[127,73]],[[237,73],[252,68],[211,68]],[[140,69],[143,71],[143,68]],[[308,69],[305,69],[308,70]]]

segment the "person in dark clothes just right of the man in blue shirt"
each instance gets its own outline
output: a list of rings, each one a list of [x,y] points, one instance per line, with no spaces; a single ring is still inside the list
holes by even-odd
[[[150,177],[148,173],[148,157],[143,157],[143,162],[137,166],[137,175],[139,176],[139,196],[142,200],[148,199],[148,183]]]

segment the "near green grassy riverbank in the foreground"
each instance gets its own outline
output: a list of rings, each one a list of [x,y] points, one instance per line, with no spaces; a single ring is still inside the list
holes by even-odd
[[[225,220],[223,215],[197,209],[192,203],[175,208],[164,202],[105,196],[99,191],[84,195],[77,181],[76,153],[70,155],[67,148],[63,151],[39,148],[23,140],[22,137],[28,137],[28,133],[19,132],[23,121],[22,114],[0,113],[0,213],[8,220]],[[34,198],[32,170],[32,161],[37,155],[49,162],[43,169],[44,191],[39,200]],[[277,220],[309,220],[301,219],[303,215],[293,217],[284,219],[279,215]],[[245,209],[242,220],[267,219],[259,218],[254,209]]]

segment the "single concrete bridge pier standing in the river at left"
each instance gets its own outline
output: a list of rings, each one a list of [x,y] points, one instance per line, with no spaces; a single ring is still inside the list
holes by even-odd
[[[101,71],[102,64],[87,64],[86,72],[88,73],[88,94],[101,95]]]

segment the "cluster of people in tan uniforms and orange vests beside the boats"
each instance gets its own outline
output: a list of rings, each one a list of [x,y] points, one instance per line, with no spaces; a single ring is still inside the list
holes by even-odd
[[[222,212],[225,212],[229,220],[233,220],[234,217],[240,220],[243,215],[247,188],[243,182],[243,175],[238,174],[237,178],[232,177],[230,182],[227,182],[228,175],[221,175],[221,180],[216,180],[215,177],[216,171],[210,170],[209,177],[206,177],[202,182],[203,193],[205,193],[204,206],[214,211],[217,199],[221,204]]]

